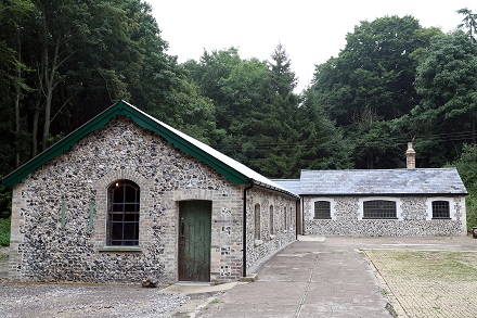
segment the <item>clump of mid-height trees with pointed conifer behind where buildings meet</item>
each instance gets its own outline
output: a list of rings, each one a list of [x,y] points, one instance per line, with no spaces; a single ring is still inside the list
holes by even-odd
[[[184,67],[216,105],[223,138],[214,145],[225,154],[274,178],[297,177],[301,168],[349,167],[343,133],[294,92],[296,76],[283,46],[268,62],[241,59],[230,48],[204,52]]]

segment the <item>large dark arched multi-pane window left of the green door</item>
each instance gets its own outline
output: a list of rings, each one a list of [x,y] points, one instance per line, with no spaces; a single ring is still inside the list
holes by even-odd
[[[107,245],[139,245],[139,186],[117,180],[107,189]]]

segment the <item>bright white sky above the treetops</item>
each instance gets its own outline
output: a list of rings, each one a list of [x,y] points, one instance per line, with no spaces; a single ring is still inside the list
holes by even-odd
[[[146,0],[147,1],[147,0]],[[462,22],[455,11],[477,13],[475,0],[149,0],[169,42],[168,53],[180,63],[211,52],[238,48],[242,59],[270,60],[282,43],[301,91],[312,79],[314,65],[337,56],[346,35],[361,21],[385,15],[417,18],[422,26],[450,31]]]

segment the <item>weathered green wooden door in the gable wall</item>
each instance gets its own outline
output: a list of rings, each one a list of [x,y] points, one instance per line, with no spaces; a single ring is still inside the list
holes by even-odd
[[[210,281],[211,202],[179,203],[179,280]]]

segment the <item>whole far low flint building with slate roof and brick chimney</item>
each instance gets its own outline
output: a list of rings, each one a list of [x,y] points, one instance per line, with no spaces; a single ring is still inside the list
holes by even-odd
[[[411,161],[408,169],[301,170],[300,179],[274,181],[301,196],[305,234],[467,234],[467,191],[455,168],[416,169]]]

